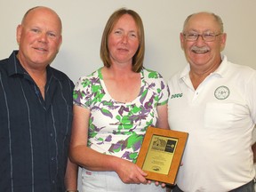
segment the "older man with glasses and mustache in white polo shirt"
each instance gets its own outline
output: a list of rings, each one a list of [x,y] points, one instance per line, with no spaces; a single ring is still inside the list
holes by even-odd
[[[210,12],[188,16],[180,33],[188,66],[168,82],[168,120],[189,136],[174,192],[254,191],[256,71],[221,55],[226,37]]]

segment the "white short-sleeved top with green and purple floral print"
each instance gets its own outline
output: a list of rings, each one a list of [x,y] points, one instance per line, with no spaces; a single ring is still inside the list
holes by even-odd
[[[143,68],[140,76],[140,94],[128,103],[111,98],[101,68],[79,78],[73,99],[75,105],[91,111],[90,148],[136,162],[148,126],[156,126],[156,107],[166,104],[169,97],[167,84],[159,73]]]

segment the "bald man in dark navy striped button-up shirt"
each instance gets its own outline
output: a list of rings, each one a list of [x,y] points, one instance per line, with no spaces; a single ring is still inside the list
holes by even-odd
[[[19,51],[0,60],[0,191],[62,192],[67,164],[76,169],[68,160],[74,84],[50,66],[61,28],[52,9],[28,10],[17,27]]]

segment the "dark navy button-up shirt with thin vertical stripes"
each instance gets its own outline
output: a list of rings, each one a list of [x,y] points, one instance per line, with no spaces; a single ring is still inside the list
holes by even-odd
[[[74,84],[48,66],[43,99],[16,54],[0,60],[0,191],[64,191]]]

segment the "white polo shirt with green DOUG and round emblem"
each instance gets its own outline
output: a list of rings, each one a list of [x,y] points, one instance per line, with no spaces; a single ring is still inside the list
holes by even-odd
[[[189,133],[177,184],[189,192],[238,188],[255,175],[256,71],[223,56],[220,67],[195,91],[189,69],[168,82],[170,127]]]

